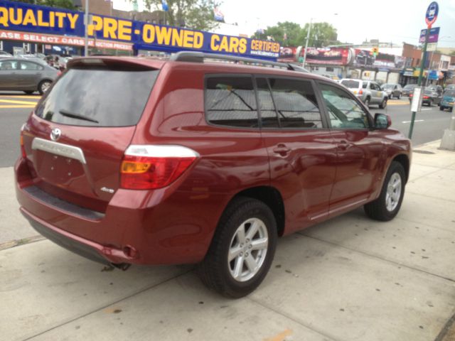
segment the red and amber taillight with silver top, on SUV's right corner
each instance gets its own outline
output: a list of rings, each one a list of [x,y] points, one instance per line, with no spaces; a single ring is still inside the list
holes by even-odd
[[[193,149],[174,145],[132,145],[120,166],[120,187],[151,190],[170,185],[198,158]]]

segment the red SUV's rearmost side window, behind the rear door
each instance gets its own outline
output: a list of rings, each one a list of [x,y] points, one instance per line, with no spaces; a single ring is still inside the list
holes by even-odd
[[[258,126],[251,77],[209,77],[205,86],[205,114],[208,122],[223,126]]]

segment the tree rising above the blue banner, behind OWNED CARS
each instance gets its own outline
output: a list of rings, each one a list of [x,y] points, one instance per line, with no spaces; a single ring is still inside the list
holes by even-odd
[[[150,11],[162,11],[161,0],[145,2]],[[167,3],[166,23],[170,26],[185,26],[201,31],[218,26],[213,18],[213,9],[220,6],[216,0],[167,0]]]

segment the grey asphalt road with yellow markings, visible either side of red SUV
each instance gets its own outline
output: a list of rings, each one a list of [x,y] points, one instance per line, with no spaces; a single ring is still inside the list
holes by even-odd
[[[21,92],[0,92],[0,167],[13,166],[19,155],[19,129],[26,121],[31,109],[40,99],[39,95],[25,95]],[[392,117],[392,128],[405,136],[410,129],[410,104],[407,97],[391,99],[385,109],[371,106],[370,112],[384,112]],[[417,113],[412,144],[418,146],[441,139],[444,129],[449,127],[451,113],[441,112],[439,107],[423,107]]]

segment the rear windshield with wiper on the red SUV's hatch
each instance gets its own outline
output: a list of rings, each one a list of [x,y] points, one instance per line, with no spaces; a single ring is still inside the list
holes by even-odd
[[[158,72],[70,69],[45,96],[36,114],[73,126],[134,126]]]

